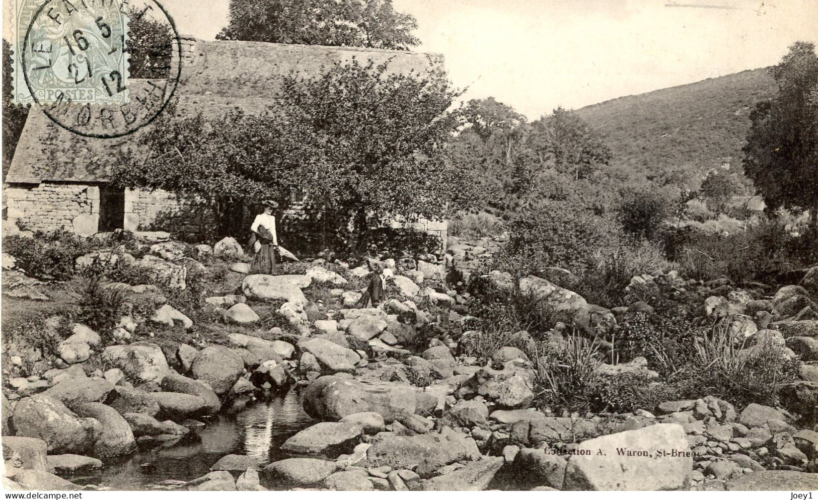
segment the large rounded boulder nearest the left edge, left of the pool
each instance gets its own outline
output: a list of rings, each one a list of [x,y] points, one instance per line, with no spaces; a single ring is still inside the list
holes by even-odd
[[[43,394],[17,402],[11,417],[17,435],[43,439],[48,453],[83,453],[91,448],[100,424],[79,418],[59,400]]]

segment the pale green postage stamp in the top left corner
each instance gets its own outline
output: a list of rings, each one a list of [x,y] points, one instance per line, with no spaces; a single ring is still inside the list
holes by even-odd
[[[13,3],[16,104],[128,102],[128,16],[119,0]]]

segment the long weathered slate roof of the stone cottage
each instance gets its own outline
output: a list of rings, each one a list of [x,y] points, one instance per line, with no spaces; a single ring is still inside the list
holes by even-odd
[[[278,96],[281,78],[295,70],[300,76],[319,74],[337,61],[389,61],[389,72],[423,72],[443,64],[438,54],[358,47],[324,47],[281,43],[185,40],[182,79],[175,97],[179,115],[221,116],[233,109],[261,114]],[[130,79],[131,99],[147,88],[145,80]],[[91,138],[54,124],[32,106],[20,134],[7,177],[8,183],[105,182],[103,164],[115,151],[133,144],[151,125],[125,137]]]

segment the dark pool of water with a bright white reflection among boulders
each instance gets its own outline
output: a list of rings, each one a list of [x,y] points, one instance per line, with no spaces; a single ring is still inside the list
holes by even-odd
[[[102,489],[158,489],[169,480],[187,481],[209,472],[219,458],[240,453],[256,457],[260,465],[285,458],[280,446],[309,426],[301,395],[290,390],[270,399],[238,403],[231,412],[214,417],[198,435],[169,444],[141,445],[137,453],[106,462],[93,475],[69,478]]]

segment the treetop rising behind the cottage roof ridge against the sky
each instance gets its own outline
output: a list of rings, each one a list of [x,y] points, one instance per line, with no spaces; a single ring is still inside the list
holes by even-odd
[[[392,0],[231,0],[222,40],[408,50],[417,21]]]

